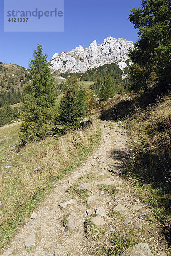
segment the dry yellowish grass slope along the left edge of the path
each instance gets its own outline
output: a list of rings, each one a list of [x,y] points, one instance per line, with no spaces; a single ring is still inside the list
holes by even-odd
[[[85,160],[100,138],[99,123],[94,120],[92,128],[84,131],[71,131],[57,140],[47,137],[30,143],[18,154],[4,153],[0,169],[0,247],[49,192],[53,182],[70,174]],[[60,149],[58,153],[55,148]],[[3,165],[11,167],[8,170]],[[7,175],[10,177],[4,178]]]

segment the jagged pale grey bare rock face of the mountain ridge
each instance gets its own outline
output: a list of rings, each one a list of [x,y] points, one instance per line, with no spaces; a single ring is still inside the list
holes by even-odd
[[[132,41],[109,36],[99,45],[94,40],[88,48],[84,49],[82,45],[79,45],[70,52],[55,53],[50,60],[51,68],[54,71],[58,70],[58,73],[84,72],[121,60],[118,62],[118,66],[124,71],[127,67],[125,61],[128,59],[128,51],[132,49],[134,49]]]

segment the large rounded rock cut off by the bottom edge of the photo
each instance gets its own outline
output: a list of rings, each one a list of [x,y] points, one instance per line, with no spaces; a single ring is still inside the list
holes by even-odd
[[[125,250],[120,256],[153,256],[148,244],[139,243]]]

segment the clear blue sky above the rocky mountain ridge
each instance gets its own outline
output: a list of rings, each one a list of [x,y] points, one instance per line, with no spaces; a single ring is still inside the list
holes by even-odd
[[[130,9],[140,5],[141,0],[65,0],[65,32],[4,32],[4,5],[0,0],[0,61],[28,67],[38,42],[48,60],[54,53],[80,44],[88,47],[94,39],[101,44],[107,36],[136,42],[137,30],[128,15]]]

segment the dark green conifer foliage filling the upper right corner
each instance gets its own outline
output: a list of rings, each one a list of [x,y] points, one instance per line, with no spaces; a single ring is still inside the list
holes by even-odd
[[[130,88],[147,90],[159,82],[171,84],[171,2],[142,0],[141,8],[132,9],[129,20],[139,29],[136,49],[130,52]]]

